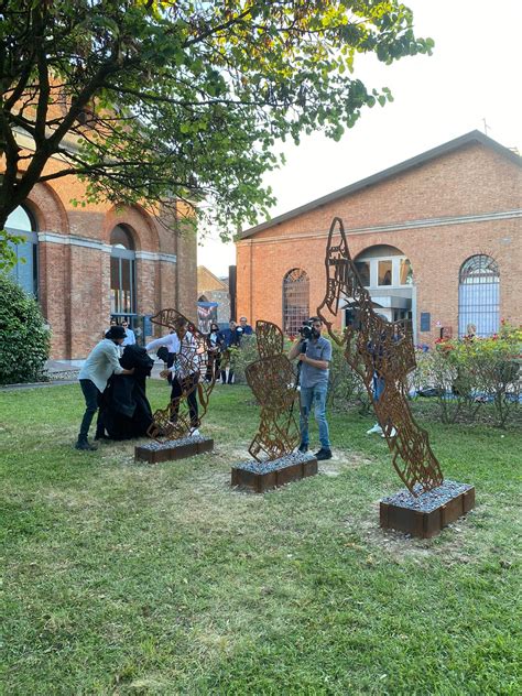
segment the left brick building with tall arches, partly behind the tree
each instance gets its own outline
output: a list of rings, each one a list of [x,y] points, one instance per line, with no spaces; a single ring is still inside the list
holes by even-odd
[[[24,135],[20,144],[31,149]],[[85,358],[111,315],[129,317],[143,338],[153,333],[144,317],[161,308],[196,316],[195,235],[166,229],[139,206],[73,206],[84,191],[73,176],[37,184],[6,226],[26,239],[13,274],[41,304],[55,359]]]

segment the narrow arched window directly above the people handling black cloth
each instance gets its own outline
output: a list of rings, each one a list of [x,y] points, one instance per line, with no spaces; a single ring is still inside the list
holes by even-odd
[[[135,251],[130,231],[122,225],[110,235],[110,312],[135,314]]]

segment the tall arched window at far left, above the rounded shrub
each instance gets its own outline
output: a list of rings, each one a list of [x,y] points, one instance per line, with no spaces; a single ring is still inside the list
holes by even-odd
[[[39,296],[39,236],[36,224],[31,213],[19,206],[11,213],[6,222],[6,229],[25,241],[20,244],[11,244],[17,254],[17,264],[11,269],[11,275],[23,290]]]

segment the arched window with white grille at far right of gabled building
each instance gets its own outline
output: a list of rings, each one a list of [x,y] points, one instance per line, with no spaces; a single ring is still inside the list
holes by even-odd
[[[458,335],[468,326],[477,336],[499,330],[500,274],[497,262],[483,253],[469,258],[460,267],[458,279]]]

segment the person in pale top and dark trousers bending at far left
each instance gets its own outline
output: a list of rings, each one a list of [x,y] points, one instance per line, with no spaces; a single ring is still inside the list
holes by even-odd
[[[109,377],[115,374],[133,374],[134,370],[124,370],[118,360],[118,346],[126,338],[126,329],[122,326],[111,326],[105,338],[90,351],[87,360],[79,371],[79,385],[85,396],[85,414],[81,420],[76,449],[96,449],[88,441],[89,427],[98,410],[101,394],[107,387]]]

